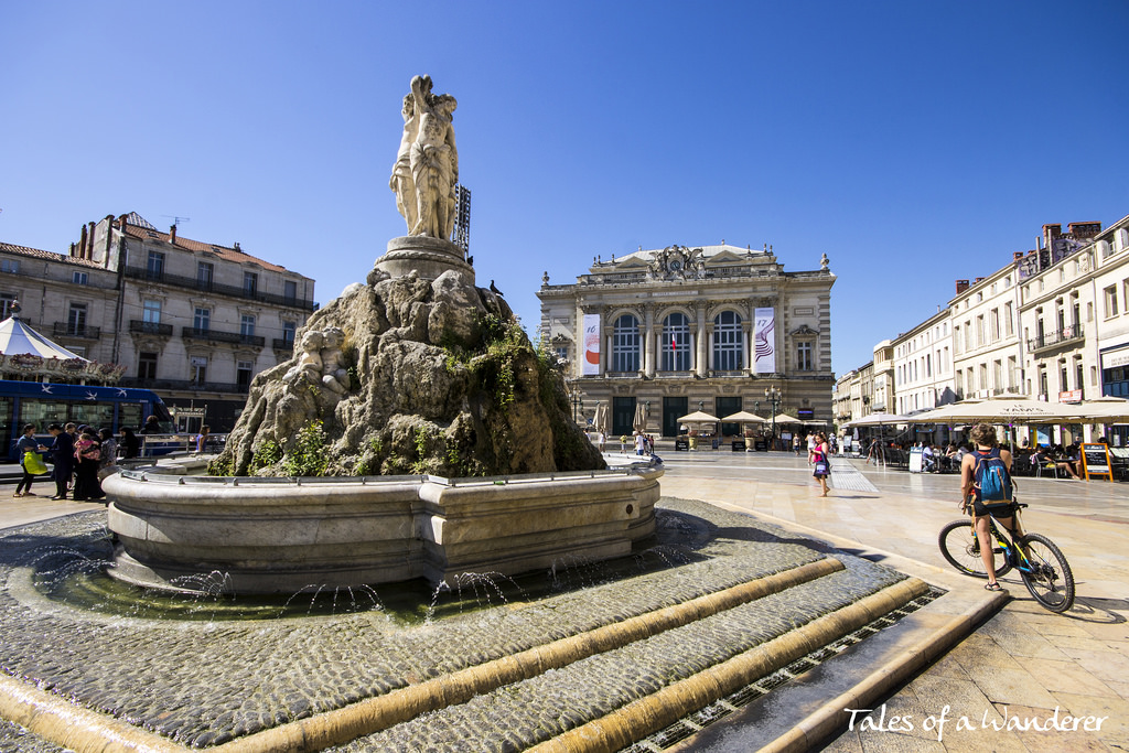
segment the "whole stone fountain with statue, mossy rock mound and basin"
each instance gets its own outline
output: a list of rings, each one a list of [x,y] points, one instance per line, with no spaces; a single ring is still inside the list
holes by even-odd
[[[391,181],[409,235],[255,376],[213,478],[106,480],[114,577],[215,570],[237,593],[438,583],[618,557],[651,534],[662,471],[606,470],[563,374],[449,240],[454,110],[412,79]]]

